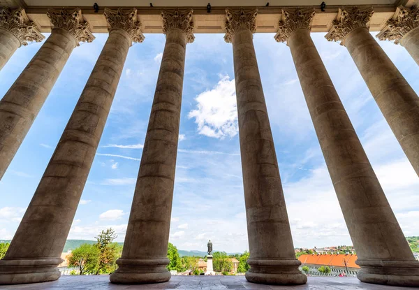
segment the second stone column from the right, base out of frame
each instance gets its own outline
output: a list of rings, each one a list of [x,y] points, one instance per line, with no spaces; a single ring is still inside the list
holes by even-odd
[[[367,22],[372,9],[342,8],[328,41],[341,41],[416,173],[419,175],[419,98],[374,37]]]

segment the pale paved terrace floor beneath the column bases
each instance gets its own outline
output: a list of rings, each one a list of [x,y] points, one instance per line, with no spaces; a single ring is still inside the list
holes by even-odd
[[[243,276],[173,276],[169,282],[143,285],[115,285],[109,282],[108,275],[102,276],[63,276],[54,282],[0,286],[0,289],[292,289],[292,290],[408,290],[419,288],[390,287],[360,282],[355,277],[309,277],[301,286],[270,286],[247,282]]]

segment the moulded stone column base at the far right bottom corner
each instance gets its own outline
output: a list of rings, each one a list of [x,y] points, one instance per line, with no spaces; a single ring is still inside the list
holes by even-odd
[[[419,287],[419,261],[355,261],[361,267],[361,282],[390,286]]]

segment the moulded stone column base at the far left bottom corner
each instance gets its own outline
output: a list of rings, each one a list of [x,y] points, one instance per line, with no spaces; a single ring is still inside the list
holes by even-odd
[[[0,285],[55,281],[60,276],[61,258],[1,259]]]

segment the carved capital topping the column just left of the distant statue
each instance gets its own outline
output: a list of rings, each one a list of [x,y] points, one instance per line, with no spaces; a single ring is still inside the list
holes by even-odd
[[[184,11],[179,11],[179,9],[161,11],[163,34],[167,34],[170,29],[180,29],[186,34],[188,43],[193,43],[195,40],[195,36],[193,36],[195,23],[193,22],[192,13],[192,9]]]

